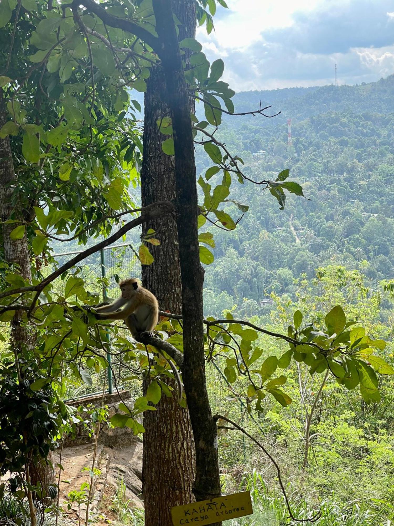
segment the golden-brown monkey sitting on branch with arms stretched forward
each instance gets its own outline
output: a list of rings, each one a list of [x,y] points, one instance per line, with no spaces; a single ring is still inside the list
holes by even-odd
[[[92,313],[99,320],[124,320],[132,337],[138,341],[141,332],[152,332],[159,320],[159,304],[152,292],[138,285],[136,278],[119,283],[121,296],[110,305],[98,307]],[[161,353],[160,353],[161,355]],[[162,356],[162,355],[161,355]],[[182,382],[177,368],[167,360],[178,384],[178,399],[182,399]]]

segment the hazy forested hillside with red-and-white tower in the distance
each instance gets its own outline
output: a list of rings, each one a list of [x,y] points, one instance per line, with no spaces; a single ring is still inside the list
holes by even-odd
[[[262,313],[257,302],[264,296],[294,295],[295,279],[312,278],[333,262],[362,269],[373,281],[394,276],[393,95],[394,76],[360,86],[235,95],[236,112],[257,109],[261,100],[272,105],[267,114],[282,113],[226,116],[218,138],[242,157],[251,178],[275,179],[290,169],[308,200],[289,196],[281,211],[263,187],[233,183],[232,197],[250,209],[234,231],[215,232],[206,311],[219,314],[236,304],[247,315]],[[197,161],[203,174],[210,165],[202,155]]]

